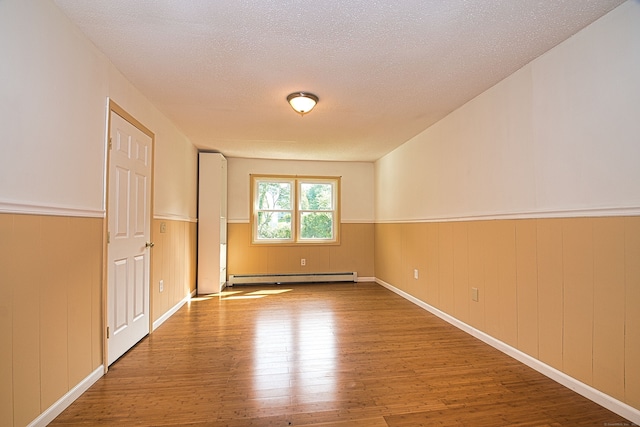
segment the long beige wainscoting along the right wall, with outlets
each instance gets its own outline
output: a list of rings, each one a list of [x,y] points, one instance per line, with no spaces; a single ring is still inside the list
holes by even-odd
[[[375,239],[378,279],[640,409],[640,217],[376,224]]]

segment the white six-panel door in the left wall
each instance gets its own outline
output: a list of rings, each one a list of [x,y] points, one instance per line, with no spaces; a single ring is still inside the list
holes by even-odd
[[[149,333],[152,139],[111,112],[107,326],[111,365]]]

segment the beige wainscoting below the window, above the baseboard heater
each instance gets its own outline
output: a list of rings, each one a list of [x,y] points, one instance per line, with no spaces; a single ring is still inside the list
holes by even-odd
[[[374,224],[343,223],[339,245],[260,246],[251,244],[251,225],[228,225],[228,274],[336,273],[373,277]],[[300,259],[306,265],[300,265]]]

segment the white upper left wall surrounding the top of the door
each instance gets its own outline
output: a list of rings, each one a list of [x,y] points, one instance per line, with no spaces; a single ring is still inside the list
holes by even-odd
[[[155,214],[196,217],[196,149],[48,0],[0,1],[0,212],[104,214],[108,97],[155,133]]]

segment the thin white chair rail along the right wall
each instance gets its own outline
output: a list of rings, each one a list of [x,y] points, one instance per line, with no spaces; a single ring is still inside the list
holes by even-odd
[[[489,221],[496,219],[544,219],[544,218],[590,218],[600,216],[638,216],[640,207],[617,207],[617,208],[593,208],[593,209],[566,209],[557,211],[538,211],[520,213],[492,213],[461,215],[455,217],[430,217],[418,219],[384,219],[376,220],[376,224],[398,224],[416,222],[460,222],[460,221]]]

